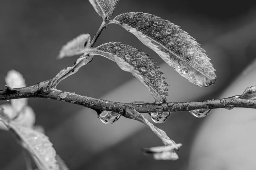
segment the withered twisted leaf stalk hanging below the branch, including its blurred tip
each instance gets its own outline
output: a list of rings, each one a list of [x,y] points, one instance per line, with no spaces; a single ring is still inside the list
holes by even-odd
[[[138,120],[147,125],[147,127],[149,127],[166,146],[144,149],[144,152],[147,153],[147,155],[150,153],[149,155],[153,156],[154,159],[157,160],[177,160],[179,158],[178,155],[175,153],[174,149],[178,149],[181,144],[176,144],[166,135],[163,130],[157,128],[152,123],[150,123],[142,114],[137,112],[133,107],[126,106],[123,116],[129,119]]]

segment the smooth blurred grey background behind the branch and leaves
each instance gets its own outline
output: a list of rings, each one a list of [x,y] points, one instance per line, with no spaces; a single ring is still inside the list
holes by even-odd
[[[249,1],[236,4],[226,0],[120,0],[114,16],[125,12],[155,14],[196,38],[217,70],[217,81],[208,88],[197,87],[179,76],[117,24],[103,30],[95,47],[111,41],[123,42],[150,53],[170,85],[168,101],[230,97],[256,85],[256,64],[247,66],[254,63],[256,54],[255,9],[256,3]],[[78,57],[57,61],[62,45],[82,33],[93,37],[101,22],[87,0],[1,0],[0,89],[5,89],[4,77],[10,69],[19,71],[27,86],[53,78]],[[130,73],[120,71],[117,64],[101,56],[95,56],[93,62],[57,88],[111,101],[154,102]],[[45,128],[71,170],[256,169],[256,112],[252,109],[216,109],[202,119],[189,112],[173,112],[157,126],[183,144],[178,151],[179,160],[154,161],[140,149],[160,146],[161,141],[140,122],[121,117],[106,125],[97,119],[94,110],[54,100],[33,98],[29,105],[36,113],[36,124]],[[21,147],[7,131],[0,131],[0,153],[0,169],[26,169]]]

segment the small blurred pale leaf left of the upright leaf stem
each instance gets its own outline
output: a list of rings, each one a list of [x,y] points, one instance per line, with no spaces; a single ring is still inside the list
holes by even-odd
[[[90,42],[91,42],[90,34],[78,35],[76,38],[69,41],[66,45],[64,45],[61,48],[57,59],[61,59],[63,57],[70,57],[74,55],[80,55],[85,52],[95,51],[95,49],[88,49]]]

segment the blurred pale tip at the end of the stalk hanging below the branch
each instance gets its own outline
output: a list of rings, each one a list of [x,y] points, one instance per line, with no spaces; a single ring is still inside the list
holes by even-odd
[[[174,151],[175,148],[181,147],[181,144],[159,146],[152,148],[143,148],[142,151],[147,156],[152,156],[155,160],[177,160],[179,156]]]

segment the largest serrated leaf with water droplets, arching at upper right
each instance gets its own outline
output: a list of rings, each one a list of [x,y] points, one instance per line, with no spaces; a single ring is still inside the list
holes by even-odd
[[[142,12],[120,14],[111,23],[117,23],[137,36],[190,82],[198,86],[214,84],[215,69],[205,50],[179,26]]]

